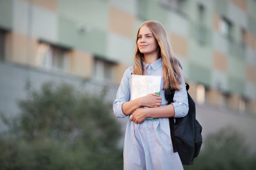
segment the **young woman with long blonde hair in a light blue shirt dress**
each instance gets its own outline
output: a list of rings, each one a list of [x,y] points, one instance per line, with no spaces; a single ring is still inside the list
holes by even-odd
[[[135,65],[124,72],[113,103],[116,117],[132,114],[124,138],[124,170],[183,169],[178,152],[173,153],[168,117],[188,114],[188,96],[179,61],[161,23],[146,21],[140,25],[133,57]],[[148,94],[130,101],[132,74],[161,76],[160,96]],[[169,84],[176,91],[168,105],[164,89]]]

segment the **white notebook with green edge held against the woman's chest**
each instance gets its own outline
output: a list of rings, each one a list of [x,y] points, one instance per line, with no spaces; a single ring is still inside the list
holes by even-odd
[[[132,74],[131,101],[151,93],[160,95],[161,76]],[[144,106],[142,106],[144,107]],[[146,107],[144,107],[146,108]],[[129,115],[130,118],[131,115]],[[157,120],[157,118],[146,118]]]

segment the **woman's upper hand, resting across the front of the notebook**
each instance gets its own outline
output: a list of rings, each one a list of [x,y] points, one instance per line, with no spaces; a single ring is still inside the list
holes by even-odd
[[[140,97],[141,106],[146,107],[159,107],[162,103],[162,97],[152,93],[146,96]]]

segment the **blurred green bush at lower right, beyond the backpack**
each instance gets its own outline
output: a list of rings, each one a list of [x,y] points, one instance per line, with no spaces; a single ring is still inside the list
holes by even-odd
[[[231,126],[209,135],[204,148],[185,170],[251,170],[255,169],[256,156],[249,152],[244,135]]]

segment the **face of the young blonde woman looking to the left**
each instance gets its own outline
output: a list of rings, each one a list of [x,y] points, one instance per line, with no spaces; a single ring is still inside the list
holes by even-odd
[[[143,54],[154,53],[158,49],[156,38],[146,26],[140,28],[137,45],[140,53]]]

